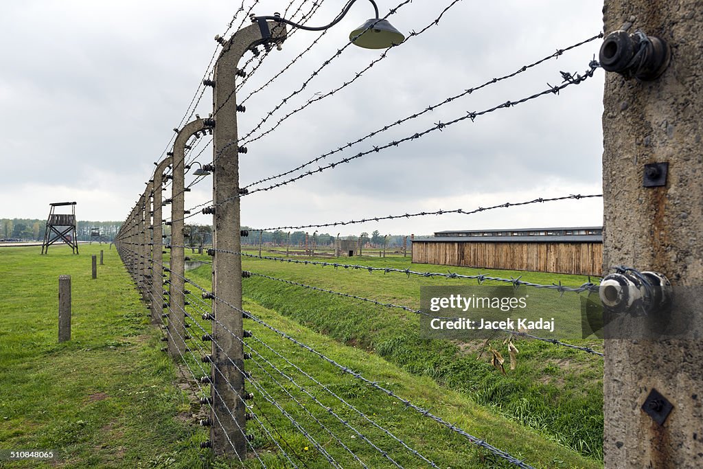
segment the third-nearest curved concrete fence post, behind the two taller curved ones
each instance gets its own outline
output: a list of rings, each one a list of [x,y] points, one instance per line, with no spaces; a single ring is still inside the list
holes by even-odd
[[[164,189],[164,171],[166,167],[172,162],[172,157],[167,157],[162,160],[154,170],[154,213],[153,213],[153,226],[154,226],[154,246],[153,246],[153,269],[151,272],[151,290],[153,292],[153,299],[151,300],[151,322],[160,323],[161,314],[164,311],[162,300],[162,291],[164,288],[164,238],[163,238],[163,214],[162,214],[162,204],[163,204],[163,189]],[[168,335],[167,335],[168,337]]]

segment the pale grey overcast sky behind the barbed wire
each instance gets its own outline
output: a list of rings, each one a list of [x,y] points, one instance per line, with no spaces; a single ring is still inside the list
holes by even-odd
[[[401,0],[378,0],[381,15]],[[309,25],[328,23],[341,1],[324,0]],[[389,16],[401,32],[420,31],[451,0],[414,0]],[[0,218],[45,218],[49,203],[75,200],[84,220],[122,220],[162,158],[173,128],[193,94],[241,0],[6,2],[0,15]],[[248,10],[253,0],[245,0]],[[311,1],[288,10],[299,19]],[[262,0],[253,13],[283,13],[288,1]],[[459,1],[438,25],[388,51],[353,84],[312,103],[275,131],[247,144],[241,155],[243,185],[292,169],[418,113],[445,98],[507,75],[602,28],[602,1]],[[245,103],[240,137],[347,44],[349,32],[373,16],[367,1],[355,4],[295,65]],[[245,18],[240,12],[235,28]],[[245,22],[245,25],[250,23]],[[297,31],[250,76],[238,101],[269,81],[318,37]],[[560,71],[583,73],[600,40],[564,53],[485,89],[381,132],[313,165],[381,146],[506,101],[548,84]],[[261,130],[311,98],[352,79],[383,51],[349,47]],[[247,53],[240,62],[250,58]],[[247,66],[250,71],[254,60]],[[242,222],[257,228],[343,221],[406,212],[472,210],[538,197],[601,191],[603,72],[512,108],[465,120],[422,139],[372,153],[295,184],[242,199]],[[197,113],[212,112],[212,89]],[[252,137],[258,133],[252,134]],[[201,139],[194,156],[207,139]],[[212,160],[205,148],[198,161]],[[297,174],[297,173],[296,173]],[[192,176],[186,176],[186,184]],[[207,177],[187,193],[186,208],[212,198]],[[211,217],[189,221],[210,223]],[[487,229],[602,224],[602,200],[371,222],[323,229],[342,236],[361,231],[427,234]],[[311,229],[310,231],[314,231]]]

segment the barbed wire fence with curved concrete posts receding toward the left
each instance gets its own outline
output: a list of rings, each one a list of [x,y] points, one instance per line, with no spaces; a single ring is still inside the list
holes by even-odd
[[[439,13],[436,20],[423,27],[419,32],[411,32],[406,41],[412,37],[420,36],[433,25],[437,25],[443,15],[459,2],[460,0],[450,1],[447,6],[441,9],[441,13]],[[357,464],[364,468],[388,467],[389,465],[398,468],[418,467],[418,465],[422,465],[422,467],[429,465],[433,468],[444,467],[441,465],[441,461],[437,460],[438,455],[436,452],[428,451],[418,441],[418,438],[415,438],[416,435],[408,434],[407,432],[403,434],[400,431],[402,430],[401,428],[389,424],[389,416],[377,415],[381,411],[380,406],[373,403],[365,403],[365,399],[356,399],[344,395],[323,378],[325,373],[337,373],[337,375],[351,378],[354,383],[363,387],[366,392],[373,394],[375,399],[385,399],[392,401],[393,404],[401,404],[401,408],[412,415],[412,417],[408,417],[404,414],[403,418],[415,419],[413,421],[416,425],[423,425],[420,423],[423,420],[432,421],[432,425],[435,426],[433,431],[438,432],[448,440],[452,439],[452,441],[468,443],[468,447],[479,451],[481,458],[490,458],[495,463],[505,463],[519,468],[534,468],[533,465],[525,462],[524,458],[513,456],[507,451],[498,449],[484,439],[460,428],[456,423],[450,423],[446,418],[437,415],[441,413],[440,411],[432,411],[421,402],[411,401],[402,397],[403,393],[394,389],[395,384],[381,385],[378,380],[354,369],[352,365],[340,363],[343,360],[333,358],[332,353],[325,353],[321,351],[320,347],[306,343],[301,338],[294,337],[294,334],[285,332],[275,319],[264,319],[260,314],[254,314],[250,309],[245,309],[242,302],[242,278],[253,276],[266,281],[284,283],[300,289],[313,290],[321,295],[336,295],[337,297],[354,300],[360,304],[370,304],[370,307],[393,309],[398,311],[398,314],[430,315],[427,311],[411,308],[404,304],[394,304],[363,295],[337,291],[332,288],[323,288],[318,285],[297,281],[297,279],[280,278],[264,272],[246,271],[241,266],[242,258],[258,259],[263,262],[285,262],[310,267],[331,267],[335,271],[343,269],[344,271],[366,271],[369,274],[380,272],[383,274],[405,274],[408,278],[446,278],[458,282],[503,283],[515,287],[524,286],[526,288],[548,290],[557,295],[590,293],[596,288],[594,283],[588,281],[582,285],[575,286],[561,285],[560,283],[548,285],[523,281],[520,277],[502,278],[489,274],[439,273],[415,271],[409,268],[397,269],[392,266],[367,266],[261,254],[252,255],[241,248],[240,238],[245,233],[241,230],[239,203],[244,196],[253,195],[260,191],[272,191],[281,186],[293,184],[307,176],[327,169],[333,169],[342,163],[352,162],[365,155],[379,153],[388,148],[399,146],[401,143],[409,144],[426,134],[435,131],[441,132],[453,124],[467,120],[474,122],[477,117],[493,113],[496,110],[513,108],[515,105],[541,98],[542,96],[555,96],[568,86],[586,82],[587,79],[593,77],[595,70],[599,66],[593,60],[588,63],[588,69],[581,75],[562,72],[562,83],[557,86],[548,85],[547,89],[536,94],[515,100],[502,101],[501,104],[485,110],[467,112],[453,120],[437,122],[433,127],[427,128],[422,132],[409,134],[403,139],[395,139],[385,145],[373,146],[368,150],[349,155],[328,165],[305,170],[323,158],[341,153],[383,131],[401,126],[446,103],[469,96],[474,91],[527,72],[546,60],[557,58],[566,51],[571,51],[602,37],[602,34],[567,46],[565,49],[557,49],[555,53],[523,65],[515,72],[491,79],[481,85],[466,89],[460,94],[449,96],[444,101],[402,117],[376,131],[361,136],[359,139],[307,160],[288,171],[240,186],[238,180],[227,180],[225,178],[230,177],[231,179],[229,175],[233,174],[233,171],[238,171],[238,153],[245,153],[242,150],[243,143],[261,139],[275,131],[282,122],[301,112],[309,105],[321,101],[323,98],[334,96],[346,89],[361,74],[370,70],[375,63],[385,59],[388,53],[388,51],[383,51],[378,59],[373,60],[366,68],[357,72],[354,78],[344,82],[341,86],[337,86],[328,93],[311,99],[306,104],[282,117],[273,127],[266,131],[260,131],[257,136],[253,136],[274,113],[283,108],[283,105],[292,96],[299,94],[323,68],[333,63],[336,58],[339,58],[342,52],[347,49],[347,46],[352,44],[353,39],[350,40],[334,56],[325,60],[320,67],[316,68],[304,80],[297,91],[293,91],[292,94],[283,98],[273,110],[266,113],[262,120],[240,139],[237,134],[236,117],[233,116],[236,116],[236,112],[240,110],[238,106],[241,106],[241,104],[236,104],[235,93],[242,88],[245,80],[249,79],[264,59],[269,56],[273,47],[283,42],[287,35],[292,34],[286,32],[285,28],[280,28],[278,23],[271,25],[272,35],[268,38],[262,37],[262,31],[259,30],[258,25],[254,24],[250,27],[242,28],[252,8],[258,4],[258,0],[254,1],[248,10],[245,8],[245,3],[245,1],[242,2],[224,34],[231,30],[236,23],[236,19],[240,17],[241,13],[244,13],[238,31],[228,40],[222,39],[224,34],[220,36],[218,49],[213,54],[209,65],[207,65],[202,84],[196,89],[186,113],[179,122],[179,127],[174,129],[174,136],[169,140],[167,149],[161,155],[160,162],[155,163],[156,172],[153,178],[150,178],[146,183],[146,191],[129,213],[115,240],[129,274],[134,278],[143,299],[148,303],[153,323],[162,328],[165,333],[164,340],[167,342],[165,350],[181,364],[183,371],[195,383],[193,389],[200,397],[200,403],[204,406],[204,409],[207,409],[207,418],[200,419],[199,423],[210,428],[210,437],[207,441],[202,442],[202,447],[212,448],[216,454],[233,455],[241,465],[249,465],[250,461],[256,461],[262,467],[269,467],[269,465],[278,467],[281,464],[284,466],[290,465],[294,468],[309,467],[308,463],[311,461],[309,453],[312,452],[317,455],[316,457],[321,458],[322,461],[326,461],[330,466],[337,468]],[[399,8],[410,3],[410,0],[402,1],[383,18],[393,15]],[[294,4],[295,1],[291,1],[285,12],[294,8]],[[304,0],[292,13],[292,17],[300,14],[299,20],[307,22],[318,11],[321,4],[322,1],[314,1],[309,4],[307,0]],[[304,9],[306,5],[309,8]],[[279,27],[276,28],[277,26]],[[277,77],[283,75],[304,53],[310,51],[323,36],[324,32],[283,70],[280,70],[263,86],[250,93],[244,101],[253,94],[257,94],[267,86],[270,86]],[[257,51],[257,47],[261,44],[264,45],[265,49],[263,55]],[[394,44],[390,49],[401,45]],[[215,60],[218,51],[219,58]],[[237,68],[239,58],[247,51],[252,51],[252,56],[241,69]],[[228,63],[225,63],[225,61]],[[254,63],[256,65],[252,65]],[[219,67],[231,66],[233,67],[231,70],[245,70],[250,65],[252,67],[248,75],[238,75],[243,78],[241,82],[236,82],[235,79],[218,78]],[[213,113],[210,117],[201,119],[198,115],[195,115],[195,109],[205,94],[207,86],[212,86],[214,89]],[[195,120],[192,120],[193,115],[196,117]],[[209,134],[212,134],[212,139],[205,141],[204,137]],[[205,150],[211,148],[211,143],[214,157],[207,165],[200,165],[198,160],[205,153]],[[200,146],[202,148],[198,150]],[[172,150],[169,150],[169,148],[172,148]],[[164,155],[166,155],[166,158],[163,158]],[[186,171],[192,169],[195,163],[198,163],[206,174],[195,176],[193,181],[186,185]],[[297,172],[300,173],[291,176]],[[186,193],[191,188],[207,181],[208,175],[213,176],[213,199],[193,205],[186,210],[183,205]],[[269,184],[268,186],[260,186],[283,177],[288,177],[288,179]],[[162,198],[162,191],[165,191],[169,185],[171,186],[170,197]],[[572,194],[562,197],[508,202],[490,207],[477,207],[472,210],[453,209],[407,212],[405,214],[363,217],[361,219],[319,224],[274,226],[273,228],[257,229],[257,231],[346,226],[368,221],[390,221],[444,214],[472,215],[486,210],[508,209],[510,207],[551,203],[559,200],[599,198],[601,196],[600,194]],[[163,217],[162,209],[167,205],[171,205],[172,210],[169,216]],[[184,221],[201,213],[212,214],[213,216],[215,235],[212,248],[207,249],[207,254],[212,257],[212,262],[202,261],[202,259],[199,261],[212,266],[211,287],[196,283],[193,278],[186,276],[185,269],[185,263],[191,259],[185,255],[188,233],[184,230]],[[166,227],[170,227],[170,234],[167,233],[168,229]],[[165,255],[167,260],[165,260]],[[223,285],[226,285],[226,288]],[[200,316],[200,319],[196,316]],[[245,321],[252,328],[251,330],[244,328]],[[200,337],[197,337],[194,333],[191,334],[194,330],[198,330],[197,335],[200,335]],[[572,345],[552,338],[541,338],[538,335],[532,335],[524,331],[502,330],[502,332],[506,335],[548,342],[552,345],[575,349],[594,356],[602,356],[601,352],[591,347]],[[207,342],[211,343],[207,345]],[[304,359],[299,356],[300,351],[304,352]],[[301,441],[304,442],[303,449],[301,449],[299,444]],[[330,442],[334,443],[330,444]],[[313,448],[313,451],[309,450],[310,447]],[[265,450],[267,448],[275,449],[275,451]],[[254,457],[249,458],[247,454],[252,454]],[[519,454],[519,456],[522,456],[522,454]]]

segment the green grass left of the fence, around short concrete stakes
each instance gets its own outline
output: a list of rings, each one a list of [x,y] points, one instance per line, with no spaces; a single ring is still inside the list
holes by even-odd
[[[91,279],[91,254],[105,265]],[[51,467],[198,467],[191,406],[158,330],[108,245],[0,249],[0,449],[53,449]],[[72,281],[72,338],[58,344],[58,276]],[[2,463],[34,468],[49,463]]]

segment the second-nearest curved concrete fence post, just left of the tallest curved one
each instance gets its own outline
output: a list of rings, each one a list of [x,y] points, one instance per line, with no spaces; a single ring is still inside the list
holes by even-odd
[[[183,210],[186,203],[186,143],[188,139],[201,131],[203,120],[196,119],[188,122],[176,136],[172,156],[172,186],[171,186],[171,263],[169,264],[169,354],[181,356],[186,352],[186,252],[183,236]]]

